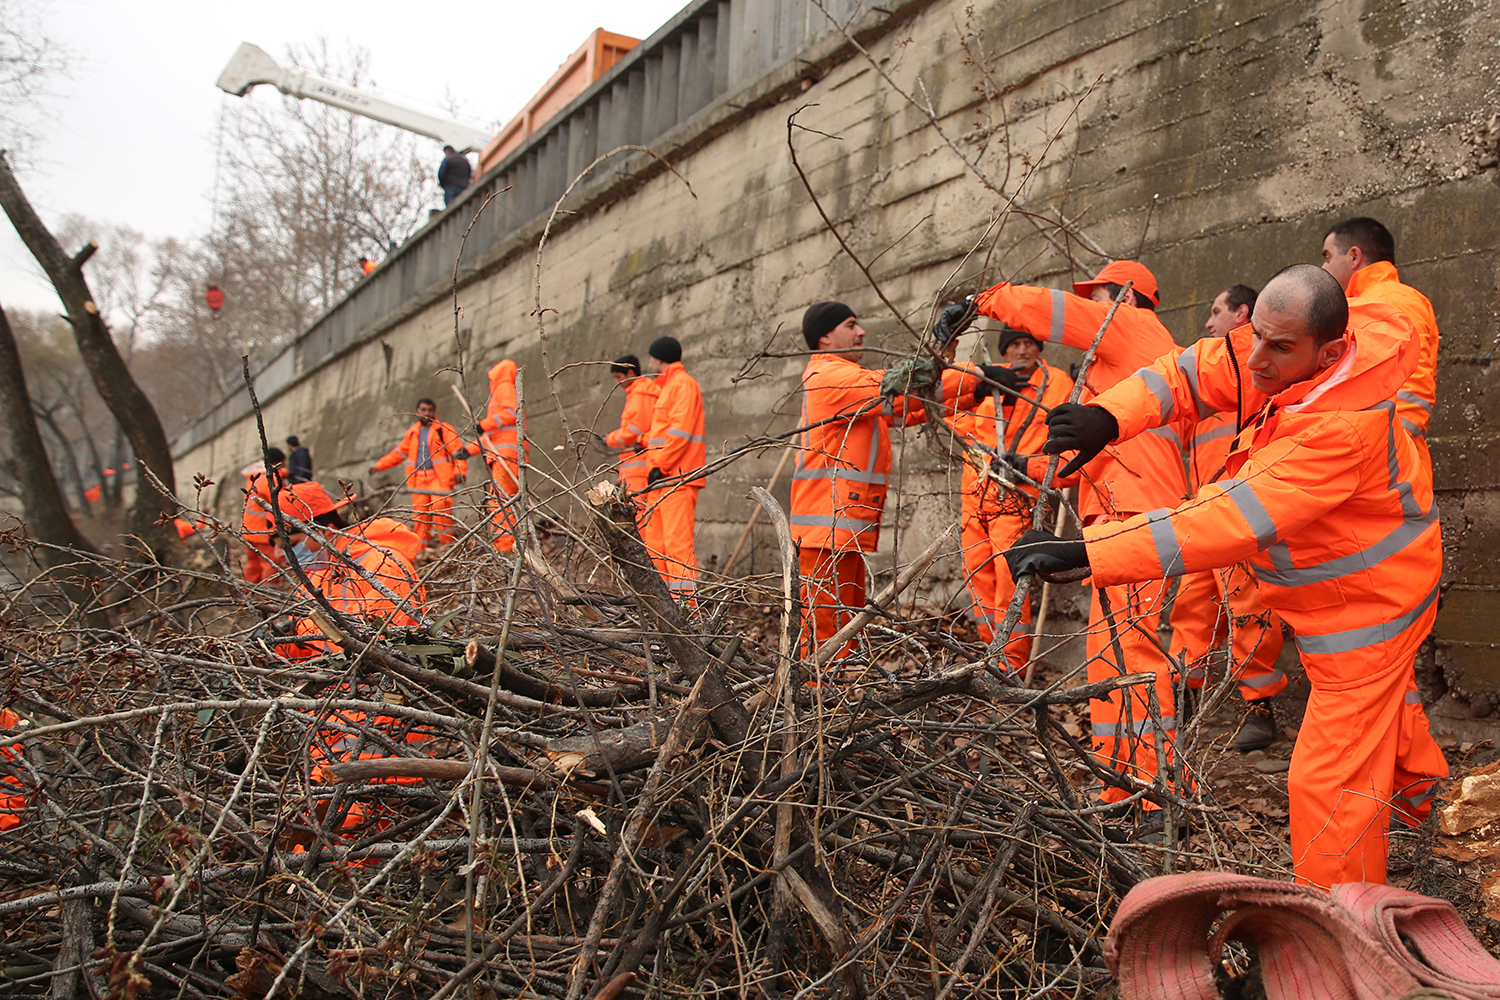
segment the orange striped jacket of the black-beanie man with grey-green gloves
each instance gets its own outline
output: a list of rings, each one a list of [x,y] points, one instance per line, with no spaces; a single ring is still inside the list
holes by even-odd
[[[921,400],[880,397],[880,369],[867,369],[842,354],[814,354],[802,370],[804,430],[792,474],[792,537],[804,549],[876,552],[880,511],[891,472],[891,424],[927,418]],[[974,408],[972,372],[942,375],[945,403]]]

